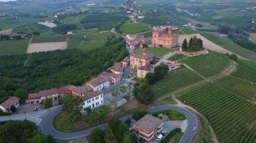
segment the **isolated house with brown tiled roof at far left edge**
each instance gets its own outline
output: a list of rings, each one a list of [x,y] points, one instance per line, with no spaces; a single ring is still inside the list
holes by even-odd
[[[17,97],[11,97],[0,104],[0,109],[6,113],[16,112],[17,107],[19,107],[19,98]]]

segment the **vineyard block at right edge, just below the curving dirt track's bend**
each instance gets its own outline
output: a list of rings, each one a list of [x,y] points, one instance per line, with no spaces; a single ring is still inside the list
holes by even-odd
[[[254,85],[247,80],[229,76],[219,79],[216,84],[252,102],[256,101]]]

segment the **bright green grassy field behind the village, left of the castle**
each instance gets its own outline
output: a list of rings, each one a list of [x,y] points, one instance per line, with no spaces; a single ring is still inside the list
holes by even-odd
[[[148,24],[144,23],[127,23],[121,26],[122,31],[124,34],[138,34],[143,31],[151,30]]]

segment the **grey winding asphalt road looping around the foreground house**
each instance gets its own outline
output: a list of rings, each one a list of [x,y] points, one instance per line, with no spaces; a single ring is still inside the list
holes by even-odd
[[[51,112],[48,112],[45,114],[45,117],[42,119],[40,123],[40,130],[44,134],[51,134],[55,139],[77,139],[81,137],[86,137],[88,134],[91,133],[91,130],[94,128],[99,129],[106,129],[106,124],[101,124],[98,127],[93,127],[91,129],[86,129],[81,132],[71,132],[71,133],[65,133],[65,132],[59,132],[54,127],[52,127],[52,119],[60,113],[62,107],[58,107],[55,109],[52,109]],[[153,107],[152,109],[149,109],[149,112],[157,112],[164,109],[173,109],[178,112],[183,113],[186,118],[188,119],[188,127],[186,128],[186,131],[183,134],[182,139],[180,140],[180,143],[188,143],[191,142],[191,139],[193,138],[195,132],[192,131],[193,127],[197,127],[197,121],[196,117],[188,111],[188,109],[185,109],[183,107],[178,107],[176,105],[162,105],[159,107]],[[132,116],[123,117],[122,120],[125,121],[126,119],[131,118]]]

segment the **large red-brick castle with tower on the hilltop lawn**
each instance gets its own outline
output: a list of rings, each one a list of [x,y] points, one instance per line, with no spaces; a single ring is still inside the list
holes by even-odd
[[[166,30],[167,34],[165,34]],[[163,46],[165,48],[178,46],[178,34],[172,34],[172,26],[154,26],[152,46]]]

